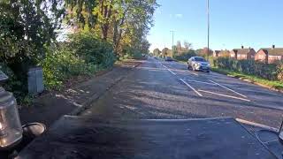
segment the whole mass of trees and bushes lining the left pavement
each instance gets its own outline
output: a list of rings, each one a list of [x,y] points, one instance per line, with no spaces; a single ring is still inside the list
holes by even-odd
[[[0,65],[5,85],[29,101],[27,70],[42,66],[47,88],[149,52],[156,0],[1,0]],[[57,42],[63,27],[71,31]],[[126,56],[125,56],[126,55]]]

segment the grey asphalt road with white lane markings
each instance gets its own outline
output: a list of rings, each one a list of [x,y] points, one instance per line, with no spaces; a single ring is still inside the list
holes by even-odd
[[[149,57],[82,116],[119,118],[235,117],[279,128],[283,95],[215,72]]]

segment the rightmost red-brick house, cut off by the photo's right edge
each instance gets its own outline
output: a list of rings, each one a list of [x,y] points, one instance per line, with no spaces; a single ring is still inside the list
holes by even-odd
[[[262,61],[264,63],[272,64],[283,60],[283,48],[263,48],[259,49],[256,53],[255,60]]]

